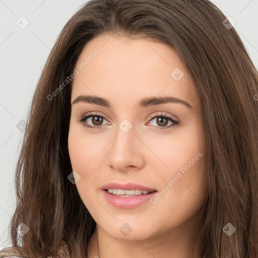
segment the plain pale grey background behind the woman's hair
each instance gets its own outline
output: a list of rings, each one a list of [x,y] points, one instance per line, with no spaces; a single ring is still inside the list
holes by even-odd
[[[69,18],[87,1],[0,0],[0,249],[11,245],[8,226],[15,209],[14,172],[23,120],[46,58]],[[213,0],[231,16],[258,69],[258,0]],[[19,26],[29,25],[25,29]],[[23,19],[23,20],[21,20]]]

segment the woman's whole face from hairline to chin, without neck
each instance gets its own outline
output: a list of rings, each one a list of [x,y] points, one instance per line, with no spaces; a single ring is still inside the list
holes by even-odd
[[[127,240],[192,234],[207,196],[207,146],[201,101],[177,53],[101,35],[75,74],[69,153],[98,227]]]

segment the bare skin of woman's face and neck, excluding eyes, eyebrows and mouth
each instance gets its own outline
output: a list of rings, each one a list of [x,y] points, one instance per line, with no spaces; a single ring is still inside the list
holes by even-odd
[[[99,54],[75,77],[71,103],[79,95],[106,98],[111,107],[77,102],[72,104],[69,153],[80,197],[96,221],[88,243],[88,257],[201,257],[197,241],[194,256],[187,254],[191,237],[200,230],[200,210],[207,197],[207,142],[201,100],[178,54],[151,39],[101,35],[84,47],[77,65],[98,48]],[[184,76],[176,81],[170,73],[180,68]],[[146,97],[173,96],[187,101],[136,107]],[[92,120],[78,121],[89,112],[103,115],[102,127]],[[152,115],[171,115],[179,123],[167,129]],[[124,133],[123,119],[132,124]],[[168,119],[169,126],[172,122]],[[101,124],[101,123],[100,123]],[[102,186],[110,182],[134,182],[158,192],[192,158],[202,154],[175,184],[157,200],[133,209],[121,209],[103,197]],[[126,236],[119,228],[127,223]],[[152,256],[153,255],[153,256]]]

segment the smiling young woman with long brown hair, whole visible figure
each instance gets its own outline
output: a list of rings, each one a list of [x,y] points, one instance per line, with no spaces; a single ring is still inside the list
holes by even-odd
[[[225,19],[207,0],[94,0],[70,19],[0,257],[257,257],[258,76]]]

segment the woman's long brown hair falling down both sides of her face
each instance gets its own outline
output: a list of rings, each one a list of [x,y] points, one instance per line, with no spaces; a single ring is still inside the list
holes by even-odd
[[[225,19],[208,0],[94,0],[68,21],[32,100],[15,175],[13,247],[0,258],[58,257],[62,248],[72,258],[87,257],[96,223],[68,180],[73,81],[56,89],[73,73],[85,44],[101,34],[151,38],[179,54],[202,101],[208,144],[209,193],[196,234],[201,255],[258,257],[258,75]],[[21,223],[29,228],[23,237],[16,230]],[[222,230],[227,223],[236,228],[231,236]]]

